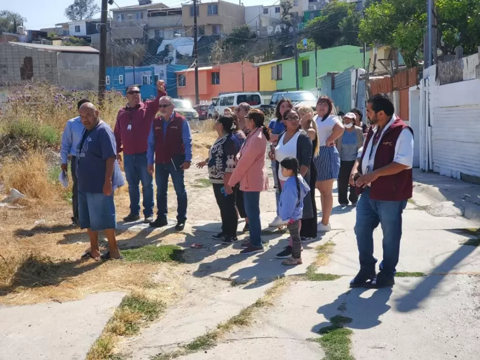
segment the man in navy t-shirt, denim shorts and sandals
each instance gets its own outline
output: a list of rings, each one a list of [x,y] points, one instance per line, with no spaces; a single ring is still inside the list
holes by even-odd
[[[115,135],[92,103],[83,104],[79,113],[85,130],[77,149],[78,208],[80,227],[87,229],[90,237],[90,251],[82,257],[121,259],[115,239],[113,193],[124,179],[116,159]],[[99,231],[105,231],[108,239],[109,251],[103,255]]]

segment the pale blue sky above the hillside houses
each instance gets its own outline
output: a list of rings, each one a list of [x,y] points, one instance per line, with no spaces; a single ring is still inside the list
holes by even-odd
[[[101,5],[101,0],[95,0]],[[241,0],[245,6],[259,5],[258,0]],[[154,3],[163,3],[170,7],[177,7],[186,3],[186,0],[153,0]],[[236,1],[230,0],[231,3]],[[262,5],[272,5],[275,0],[262,1]],[[68,21],[64,15],[65,8],[73,3],[73,0],[0,0],[2,10],[10,10],[19,13],[27,18],[25,27],[30,30],[39,30],[40,28],[54,28],[56,23]],[[115,0],[120,6],[137,5],[137,0]],[[6,6],[5,6],[6,5]],[[116,7],[115,4],[109,6],[109,9]],[[100,14],[99,16],[100,17]]]

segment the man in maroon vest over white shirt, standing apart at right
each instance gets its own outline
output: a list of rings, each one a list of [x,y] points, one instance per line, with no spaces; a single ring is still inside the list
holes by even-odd
[[[350,183],[362,193],[355,224],[360,271],[350,286],[379,289],[395,284],[402,212],[413,190],[413,131],[394,114],[393,104],[385,94],[368,100],[367,115],[376,126],[370,127],[350,176]],[[359,172],[363,175],[358,177]],[[383,232],[383,260],[376,274],[373,230],[379,224]]]

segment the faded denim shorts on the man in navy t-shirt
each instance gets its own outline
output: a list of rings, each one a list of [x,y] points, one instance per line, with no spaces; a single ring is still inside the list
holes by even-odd
[[[80,227],[92,231],[116,228],[115,203],[113,194],[83,193],[78,191],[78,213]]]

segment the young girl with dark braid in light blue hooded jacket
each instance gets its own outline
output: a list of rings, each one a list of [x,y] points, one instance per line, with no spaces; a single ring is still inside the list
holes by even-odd
[[[310,191],[310,187],[298,174],[298,160],[294,157],[286,157],[280,162],[282,175],[287,178],[282,187],[278,214],[282,221],[288,221],[292,238],[292,257],[282,261],[283,265],[299,265],[302,263],[302,243],[300,239],[300,219],[303,213],[303,198]]]

